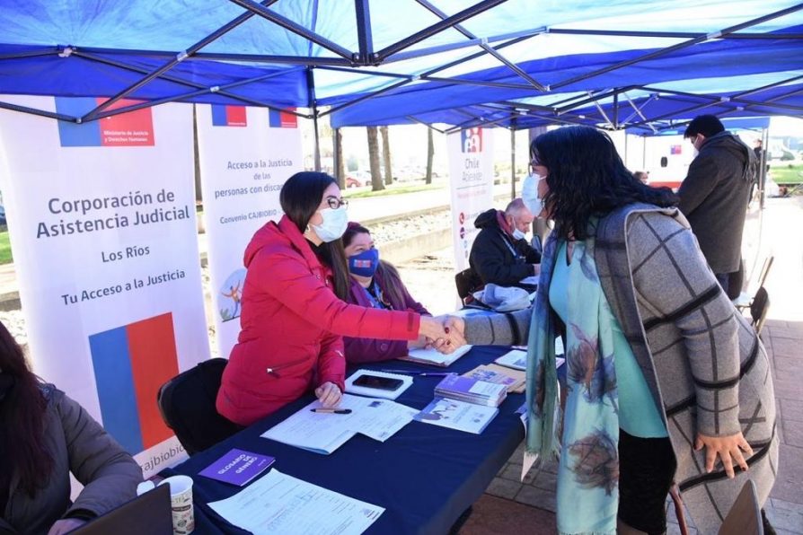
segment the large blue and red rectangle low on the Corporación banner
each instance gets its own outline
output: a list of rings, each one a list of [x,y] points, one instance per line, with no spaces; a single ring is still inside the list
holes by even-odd
[[[179,374],[172,313],[90,335],[89,346],[106,431],[130,453],[170,438],[156,394]]]

